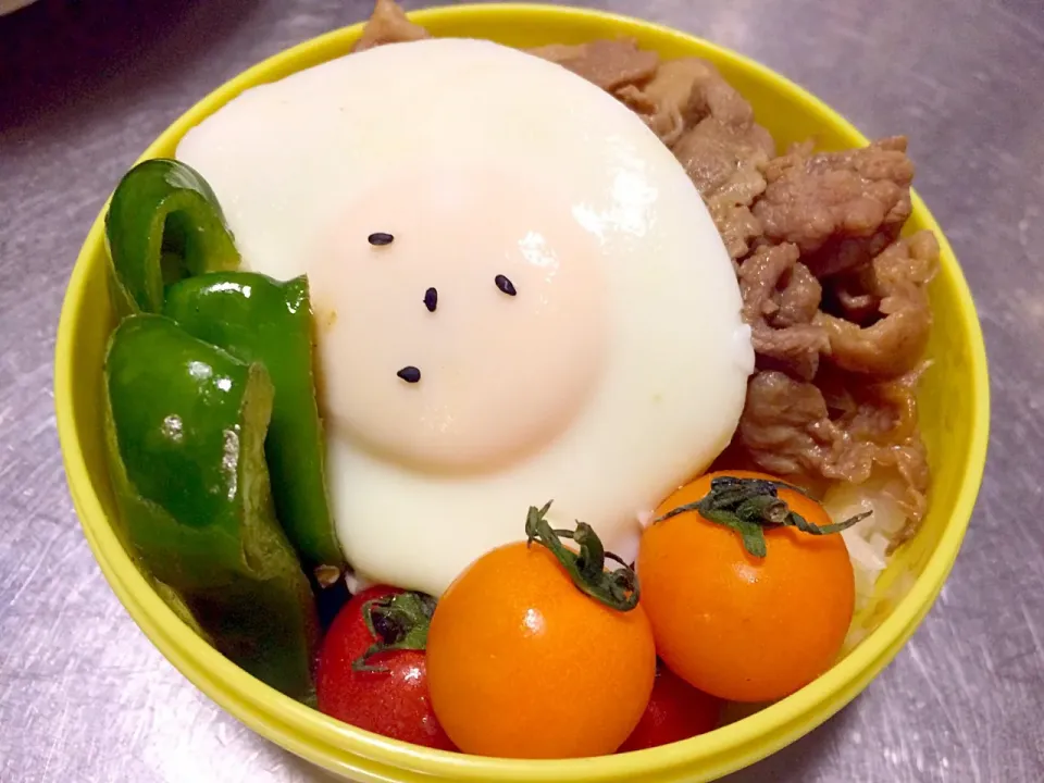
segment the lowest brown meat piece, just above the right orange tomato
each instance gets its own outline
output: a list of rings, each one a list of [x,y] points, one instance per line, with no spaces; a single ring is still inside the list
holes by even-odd
[[[750,378],[736,439],[761,470],[807,486],[861,484],[893,471],[912,525],[927,509],[929,470],[917,432],[917,373],[884,384],[838,380],[841,397],[776,371]],[[858,389],[858,391],[856,391]]]

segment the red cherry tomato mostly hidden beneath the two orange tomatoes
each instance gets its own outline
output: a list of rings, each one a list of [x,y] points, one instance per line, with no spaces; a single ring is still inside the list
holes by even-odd
[[[706,734],[718,725],[722,701],[697,691],[666,666],[656,668],[652,695],[642,720],[617,753],[642,750]]]

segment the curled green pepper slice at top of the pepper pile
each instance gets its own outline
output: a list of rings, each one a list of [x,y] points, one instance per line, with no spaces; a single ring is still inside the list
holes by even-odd
[[[120,181],[105,216],[110,295],[117,314],[158,313],[163,286],[239,266],[217,197],[191,166],[158,158]]]

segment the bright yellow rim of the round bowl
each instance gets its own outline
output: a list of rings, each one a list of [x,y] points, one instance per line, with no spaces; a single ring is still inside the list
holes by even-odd
[[[853,144],[867,139],[837,112],[790,79],[732,50],[696,36],[652,22],[600,10],[573,7],[490,3],[462,4],[417,11],[409,14],[418,24],[450,24],[477,17],[510,18],[514,23],[546,24],[598,21],[620,28],[645,29],[682,46],[696,45],[768,84],[787,101],[803,103],[824,117]],[[331,30],[306,40],[241,72],[195,103],[172,123],[141,154],[157,156],[169,139],[181,138],[219,107],[243,90],[268,82],[270,72],[306,52],[347,44],[360,33],[362,23]],[[623,29],[621,29],[623,32]],[[293,70],[299,70],[297,67]],[[942,265],[957,291],[958,318],[967,330],[970,360],[973,420],[971,444],[966,456],[960,490],[954,513],[930,554],[922,573],[893,608],[891,614],[843,660],[797,693],[757,713],[709,734],[682,743],[587,759],[533,761],[497,759],[432,750],[372,734],[340,723],[318,710],[276,692],[236,667],[210,647],[167,607],[123,550],[105,518],[91,485],[82,444],[77,437],[73,398],[75,395],[75,324],[86,307],[84,291],[91,258],[104,247],[104,213],[96,219],[73,269],[55,343],[54,403],[58,433],[70,493],[85,536],[113,592],[152,644],[190,682],[224,710],[250,729],[306,759],[343,774],[365,774],[380,780],[430,780],[430,775],[469,781],[597,781],[631,780],[679,770],[696,762],[711,774],[724,774],[768,756],[790,744],[831,717],[854,698],[895,656],[932,606],[953,567],[975,504],[989,440],[989,380],[982,331],[971,293],[953,250],[923,201],[912,194],[913,214],[939,238]],[[395,774],[398,778],[383,775]],[[405,775],[405,776],[403,776]]]

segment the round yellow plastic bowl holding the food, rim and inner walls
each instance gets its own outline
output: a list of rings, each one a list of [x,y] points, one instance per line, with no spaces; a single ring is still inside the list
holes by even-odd
[[[823,147],[866,139],[791,82],[733,52],[646,22],[540,5],[461,5],[412,18],[436,36],[489,38],[512,46],[633,36],[664,58],[713,61],[755,107],[776,141],[817,136]],[[142,159],[173,157],[182,136],[243,90],[348,52],[355,25],[266,60],[215,90],[167,128]],[[974,304],[954,254],[928,209],[913,199],[909,229],[935,232],[942,273],[932,285],[933,363],[921,390],[921,421],[934,474],[931,513],[893,560],[871,609],[872,629],[829,672],[756,714],[683,743],[636,754],[567,761],[520,761],[428,750],[345,725],[281,695],[202,642],[127,556],[111,523],[115,508],[101,435],[101,364],[113,315],[105,288],[103,214],[80,250],[58,332],[54,399],[69,485],[84,533],[112,589],[156,646],[203,693],[259,734],[349,780],[638,781],[693,783],[749,765],[810,731],[856,696],[895,656],[928,612],[957,557],[982,477],[989,385]],[[903,572],[915,580],[904,585]],[[893,597],[897,596],[897,597]]]

